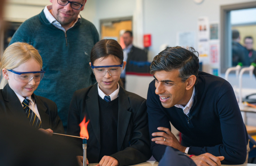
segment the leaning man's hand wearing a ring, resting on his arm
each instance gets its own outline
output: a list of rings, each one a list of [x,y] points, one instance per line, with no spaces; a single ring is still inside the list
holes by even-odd
[[[171,133],[169,128],[165,127],[158,127],[157,128],[160,131],[165,132],[154,132],[152,133],[152,136],[160,136],[156,138],[152,138],[152,141],[155,141],[156,144],[162,144],[166,146],[171,146],[175,149],[178,149],[180,152],[185,152],[187,147],[182,146],[177,138]]]

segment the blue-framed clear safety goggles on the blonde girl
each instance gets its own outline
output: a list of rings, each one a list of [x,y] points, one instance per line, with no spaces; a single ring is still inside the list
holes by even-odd
[[[16,72],[14,70],[8,70],[12,73],[14,73],[14,80],[23,82],[23,83],[29,83],[32,79],[34,79],[35,82],[39,82],[43,79],[45,71],[35,71],[35,72]]]

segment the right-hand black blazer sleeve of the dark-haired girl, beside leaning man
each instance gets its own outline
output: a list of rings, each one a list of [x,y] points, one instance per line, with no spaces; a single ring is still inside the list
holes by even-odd
[[[151,157],[146,110],[146,100],[144,100],[133,118],[130,147],[111,155],[119,161],[120,166],[142,163]]]

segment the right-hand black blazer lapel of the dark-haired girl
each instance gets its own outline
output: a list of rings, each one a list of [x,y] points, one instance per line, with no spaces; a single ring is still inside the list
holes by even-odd
[[[130,121],[131,112],[128,109],[131,107],[127,95],[122,87],[119,88],[118,94],[118,127],[117,127],[117,139],[118,139],[118,151],[121,150],[122,143],[125,137],[125,133]]]

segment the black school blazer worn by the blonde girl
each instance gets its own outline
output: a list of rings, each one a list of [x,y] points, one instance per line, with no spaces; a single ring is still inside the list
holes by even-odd
[[[32,98],[35,99],[42,122],[42,128],[51,128],[53,132],[64,133],[62,121],[58,116],[55,102],[45,97],[36,96],[34,93],[32,94]],[[30,125],[19,98],[8,84],[3,89],[0,89],[0,113],[2,113],[3,116],[18,117],[17,119],[20,120],[20,123]]]

